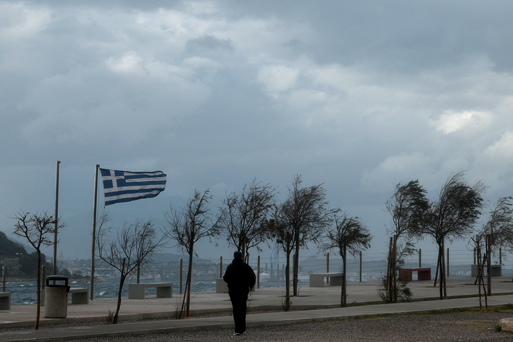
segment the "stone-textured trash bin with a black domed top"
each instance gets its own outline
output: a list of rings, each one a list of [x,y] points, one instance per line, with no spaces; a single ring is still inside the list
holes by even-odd
[[[64,281],[64,284],[57,284],[57,281],[61,283]],[[45,318],[66,318],[68,315],[68,292],[68,277],[64,275],[46,277]]]

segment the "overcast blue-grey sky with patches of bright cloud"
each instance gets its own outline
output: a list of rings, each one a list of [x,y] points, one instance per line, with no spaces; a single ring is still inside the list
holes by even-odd
[[[490,202],[513,195],[511,13],[509,1],[0,0],[0,229],[20,210],[53,213],[60,160],[65,220],[92,211],[95,164],[167,173],[159,196],[107,207],[159,220],[194,189],[221,200],[256,177],[283,197],[301,174],[386,250],[398,183],[419,179],[435,199],[464,170]]]

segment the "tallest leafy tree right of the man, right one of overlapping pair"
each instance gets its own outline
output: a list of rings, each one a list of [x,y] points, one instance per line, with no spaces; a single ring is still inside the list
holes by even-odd
[[[277,221],[294,233],[292,248],[294,262],[292,270],[293,295],[298,295],[299,251],[310,242],[318,243],[326,227],[333,222],[333,215],[340,209],[330,209],[326,190],[320,185],[302,188],[301,175],[292,179],[288,198],[277,211]]]

